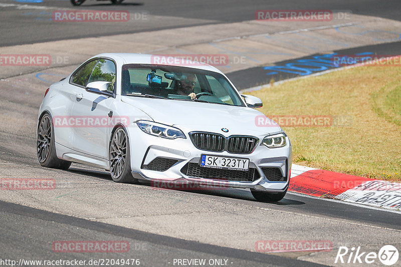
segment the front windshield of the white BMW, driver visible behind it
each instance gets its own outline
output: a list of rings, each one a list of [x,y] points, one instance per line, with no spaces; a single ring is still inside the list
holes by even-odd
[[[222,74],[190,67],[125,64],[122,95],[244,106]]]

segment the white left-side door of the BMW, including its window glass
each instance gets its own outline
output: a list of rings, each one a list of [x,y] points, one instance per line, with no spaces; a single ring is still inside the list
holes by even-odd
[[[115,96],[116,64],[106,58],[99,58],[85,85],[109,82],[106,91],[91,91],[85,86],[78,87],[72,109],[76,119],[73,134],[73,149],[101,158],[108,158],[108,144],[111,132],[110,106]],[[113,95],[114,96],[111,96]]]

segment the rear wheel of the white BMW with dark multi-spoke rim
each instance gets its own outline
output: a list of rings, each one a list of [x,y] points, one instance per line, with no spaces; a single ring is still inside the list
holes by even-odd
[[[48,168],[68,169],[70,161],[57,157],[52,117],[45,113],[38,125],[36,152],[39,163]]]

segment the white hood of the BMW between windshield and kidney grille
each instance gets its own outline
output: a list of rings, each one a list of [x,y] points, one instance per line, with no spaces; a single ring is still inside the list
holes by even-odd
[[[263,135],[281,131],[273,120],[249,107],[138,96],[122,96],[121,100],[141,109],[156,122],[174,125],[184,131],[202,130],[224,135]],[[264,126],[257,125],[259,117],[264,118]],[[224,133],[222,128],[229,132]]]

